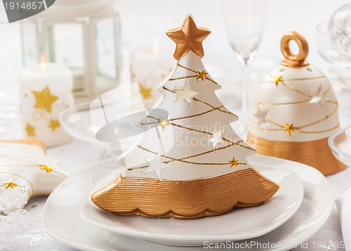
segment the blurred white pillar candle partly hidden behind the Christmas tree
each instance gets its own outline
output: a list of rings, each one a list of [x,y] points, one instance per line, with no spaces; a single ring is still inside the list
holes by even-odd
[[[166,79],[176,60],[172,48],[153,47],[134,50],[131,53],[131,81],[137,82],[145,108],[150,108],[159,100],[161,93],[157,91],[159,84]],[[138,93],[133,90],[133,95]]]

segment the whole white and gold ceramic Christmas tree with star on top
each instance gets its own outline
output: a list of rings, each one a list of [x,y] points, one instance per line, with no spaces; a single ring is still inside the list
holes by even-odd
[[[144,124],[155,128],[118,160],[126,171],[91,196],[98,207],[116,215],[194,219],[260,205],[279,189],[251,168],[246,157],[256,150],[230,127],[238,117],[218,100],[220,86],[201,62],[208,34],[191,15],[167,32],[178,64],[159,86],[164,98],[157,109],[168,116],[148,116]]]

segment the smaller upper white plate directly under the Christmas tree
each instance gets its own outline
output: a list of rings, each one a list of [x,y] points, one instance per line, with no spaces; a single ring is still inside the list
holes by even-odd
[[[85,196],[81,217],[87,222],[125,236],[167,245],[202,246],[204,241],[221,243],[262,236],[290,219],[303,201],[303,186],[298,175],[287,170],[255,165],[263,176],[279,184],[279,190],[263,205],[237,208],[224,215],[201,219],[155,219],[112,215],[91,201],[91,194],[120,175],[112,172]]]

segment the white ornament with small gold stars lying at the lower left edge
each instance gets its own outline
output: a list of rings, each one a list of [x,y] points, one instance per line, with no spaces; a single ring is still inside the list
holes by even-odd
[[[0,212],[22,209],[29,198],[48,195],[69,173],[46,157],[38,140],[0,140]]]

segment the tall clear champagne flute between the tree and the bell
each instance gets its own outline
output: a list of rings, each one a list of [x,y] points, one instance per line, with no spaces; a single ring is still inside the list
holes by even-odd
[[[249,65],[265,27],[267,0],[223,0],[222,9],[228,40],[237,60],[241,63],[241,133],[246,135],[251,107]]]

